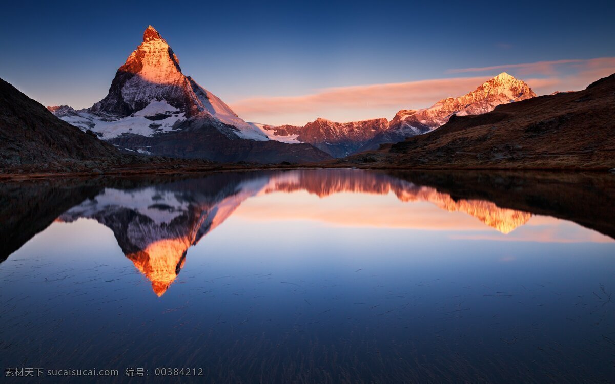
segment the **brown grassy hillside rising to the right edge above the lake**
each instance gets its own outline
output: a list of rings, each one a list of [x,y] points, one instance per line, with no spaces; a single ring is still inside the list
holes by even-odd
[[[579,92],[455,116],[426,135],[340,164],[383,168],[615,168],[615,74]]]

